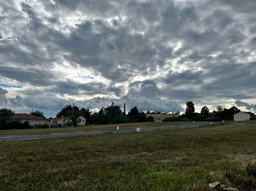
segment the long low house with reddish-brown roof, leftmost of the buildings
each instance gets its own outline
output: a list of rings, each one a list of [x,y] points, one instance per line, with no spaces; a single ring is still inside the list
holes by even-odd
[[[47,123],[44,117],[38,117],[31,114],[14,114],[11,120],[18,120],[21,123],[29,122],[29,125],[42,125]]]

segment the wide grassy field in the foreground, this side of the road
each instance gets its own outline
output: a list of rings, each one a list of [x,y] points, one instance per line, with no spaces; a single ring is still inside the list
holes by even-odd
[[[0,190],[256,190],[256,122],[1,141],[0,158]]]

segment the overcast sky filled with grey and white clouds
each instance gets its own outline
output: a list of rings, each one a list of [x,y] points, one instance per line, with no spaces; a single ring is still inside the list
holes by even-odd
[[[0,107],[256,103],[255,0],[1,0]]]

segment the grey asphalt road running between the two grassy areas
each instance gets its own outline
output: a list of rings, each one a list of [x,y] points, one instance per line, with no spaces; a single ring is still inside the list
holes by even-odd
[[[161,129],[178,129],[178,128],[192,128],[195,126],[210,125],[211,122],[195,122],[184,125],[165,125],[153,128],[129,128],[120,130],[97,130],[91,132],[68,132],[68,133],[50,133],[48,135],[18,135],[18,136],[0,136],[0,141],[12,141],[12,140],[28,140],[28,139],[45,139],[45,138],[56,138],[56,137],[68,137],[68,136],[91,136],[99,135],[103,133],[133,133],[133,132],[144,132],[151,130]]]

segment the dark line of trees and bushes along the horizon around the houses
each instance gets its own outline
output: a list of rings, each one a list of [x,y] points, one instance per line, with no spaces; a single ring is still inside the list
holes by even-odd
[[[86,118],[86,123],[91,125],[105,125],[105,124],[116,124],[116,123],[128,123],[128,122],[153,122],[153,117],[146,117],[144,112],[139,111],[137,106],[132,106],[132,109],[125,114],[121,112],[121,107],[116,106],[112,103],[107,108],[102,107],[99,112],[92,114],[90,109],[85,107],[79,109],[78,106],[67,105],[61,109],[60,112],[56,114],[56,117],[68,117],[72,123],[68,125],[76,126],[78,125],[78,117],[83,116]],[[173,112],[173,114],[178,114],[178,117],[169,117],[165,118],[165,122],[170,121],[221,121],[221,120],[233,120],[233,115],[241,112],[236,106],[226,109],[222,106],[217,106],[217,111],[211,113],[207,106],[203,106],[200,113],[195,112],[195,106],[192,101],[187,101],[186,112],[182,115],[179,115],[179,112]],[[153,114],[160,114],[162,112],[147,112]],[[45,117],[42,112],[32,111],[30,114]],[[37,125],[31,127],[29,122],[24,122],[21,124],[19,121],[10,120],[14,115],[11,109],[0,109],[0,129],[11,129],[11,128],[47,128],[47,125]]]

